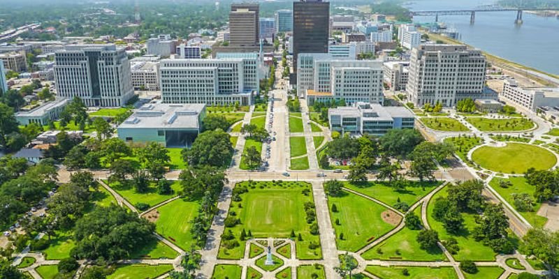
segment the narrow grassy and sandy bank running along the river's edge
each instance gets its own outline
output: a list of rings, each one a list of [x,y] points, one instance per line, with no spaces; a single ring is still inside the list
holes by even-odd
[[[460,40],[454,40],[452,38],[448,38],[446,36],[440,36],[435,33],[429,33],[426,30],[421,30],[423,33],[428,34],[430,40],[441,40],[444,43],[452,43],[452,44],[459,44],[459,45],[467,45],[468,47],[472,47],[466,43],[461,42]],[[472,47],[473,48],[473,47]],[[487,60],[493,65],[500,68],[504,68],[510,71],[517,73],[518,75],[524,75],[530,78],[530,80],[534,80],[542,86],[559,86],[559,75],[553,75],[551,73],[546,73],[542,70],[538,70],[535,68],[531,68],[528,66],[524,66],[522,64],[509,61],[502,57],[493,55],[488,52],[484,52],[484,55],[487,57]]]

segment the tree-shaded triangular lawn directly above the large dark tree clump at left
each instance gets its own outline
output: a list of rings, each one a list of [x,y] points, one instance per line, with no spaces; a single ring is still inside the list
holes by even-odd
[[[107,183],[107,181],[105,181],[105,183]],[[182,190],[179,181],[173,181],[173,184],[171,184],[170,187],[173,188],[174,193],[170,195],[161,195],[157,193],[157,184],[154,182],[150,183],[150,187],[147,188],[145,193],[138,193],[132,186],[124,186],[118,182],[110,183],[109,186],[115,189],[131,204],[136,205],[138,202],[143,202],[145,204],[150,204],[150,207],[175,197],[177,193]]]

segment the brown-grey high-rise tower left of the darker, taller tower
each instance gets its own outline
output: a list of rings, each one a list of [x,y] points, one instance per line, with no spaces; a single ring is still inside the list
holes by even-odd
[[[229,12],[229,43],[232,46],[259,45],[259,4],[233,3]]]

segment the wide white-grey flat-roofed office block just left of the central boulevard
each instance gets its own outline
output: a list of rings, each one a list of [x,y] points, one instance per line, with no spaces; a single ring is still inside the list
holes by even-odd
[[[161,60],[164,103],[251,105],[259,91],[261,65],[256,53],[219,53],[216,59]]]

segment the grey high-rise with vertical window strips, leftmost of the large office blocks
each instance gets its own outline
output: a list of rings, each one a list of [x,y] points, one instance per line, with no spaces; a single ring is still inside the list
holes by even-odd
[[[82,98],[88,107],[120,107],[134,94],[130,62],[116,45],[66,45],[55,52],[58,96]]]

